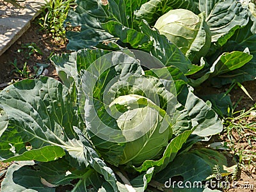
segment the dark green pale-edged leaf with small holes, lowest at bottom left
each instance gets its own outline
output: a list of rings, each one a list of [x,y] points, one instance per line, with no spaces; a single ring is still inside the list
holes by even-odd
[[[59,159],[35,164],[33,161],[14,163],[8,168],[1,191],[98,191],[111,186],[91,168],[77,170],[67,160]],[[54,175],[54,177],[52,177]],[[77,180],[74,183],[74,179]]]

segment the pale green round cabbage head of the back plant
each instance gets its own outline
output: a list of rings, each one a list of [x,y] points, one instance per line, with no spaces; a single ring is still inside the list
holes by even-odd
[[[196,63],[207,54],[211,45],[211,31],[204,15],[184,9],[170,10],[159,17],[154,28]]]

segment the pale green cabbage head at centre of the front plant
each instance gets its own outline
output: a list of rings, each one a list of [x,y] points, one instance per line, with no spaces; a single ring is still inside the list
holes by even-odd
[[[119,164],[141,164],[163,152],[172,137],[171,119],[163,109],[134,94],[117,97],[109,108],[114,116],[120,113],[116,122],[125,138],[135,138],[126,143]]]

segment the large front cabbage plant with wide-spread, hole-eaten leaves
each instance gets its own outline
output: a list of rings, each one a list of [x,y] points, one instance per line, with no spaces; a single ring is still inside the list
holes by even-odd
[[[222,124],[173,67],[127,50],[51,60],[61,82],[27,79],[0,92],[0,158],[13,162],[1,191],[165,190],[175,175],[205,180],[213,164],[227,165],[211,148],[191,148]]]

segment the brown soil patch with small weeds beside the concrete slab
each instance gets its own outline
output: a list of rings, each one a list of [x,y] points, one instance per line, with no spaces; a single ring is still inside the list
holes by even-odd
[[[58,77],[49,57],[52,54],[68,52],[66,49],[67,40],[56,41],[52,38],[51,34],[44,33],[40,29],[40,26],[33,22],[28,31],[0,56],[0,89],[25,78],[15,70],[12,64],[15,63],[15,60],[17,60],[17,67],[20,70],[24,67],[24,63],[27,64],[24,71],[28,72],[29,77],[35,76],[36,69],[39,68],[36,63],[50,64],[47,70],[45,70],[45,75],[54,78]],[[31,51],[28,45],[33,45],[35,49],[40,50],[40,53]],[[33,53],[29,56],[30,51]]]

